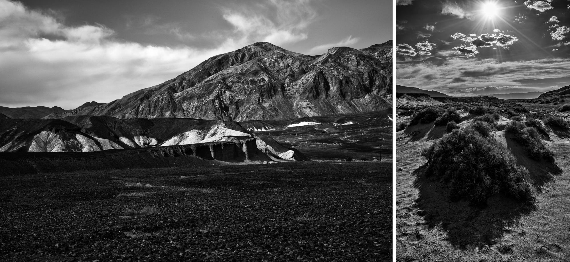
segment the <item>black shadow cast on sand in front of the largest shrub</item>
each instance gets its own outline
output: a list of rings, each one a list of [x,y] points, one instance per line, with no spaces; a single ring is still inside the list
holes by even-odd
[[[508,227],[536,210],[534,202],[521,203],[502,194],[491,196],[486,206],[467,200],[453,201],[449,189],[438,178],[426,175],[427,164],[414,170],[414,187],[419,191],[416,206],[428,229],[441,228],[455,249],[481,248],[503,238]]]

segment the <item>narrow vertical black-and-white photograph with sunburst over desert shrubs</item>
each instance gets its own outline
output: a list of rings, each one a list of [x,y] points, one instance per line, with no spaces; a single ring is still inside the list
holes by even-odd
[[[396,0],[396,260],[568,261],[570,2]]]

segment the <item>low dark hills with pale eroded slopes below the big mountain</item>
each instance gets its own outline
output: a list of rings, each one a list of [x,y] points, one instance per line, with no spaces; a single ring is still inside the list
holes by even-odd
[[[225,144],[246,140],[254,141],[254,146],[270,155],[267,159],[308,160],[295,149],[284,148],[270,137],[257,137],[234,121],[104,116],[71,116],[64,120],[0,118],[0,152],[96,152],[213,142],[221,143],[223,149]]]

